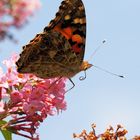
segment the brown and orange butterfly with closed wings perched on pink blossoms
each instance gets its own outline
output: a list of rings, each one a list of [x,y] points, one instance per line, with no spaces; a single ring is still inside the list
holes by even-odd
[[[16,62],[19,73],[44,79],[71,77],[92,66],[83,61],[86,15],[81,0],[62,1],[56,17],[27,45]]]

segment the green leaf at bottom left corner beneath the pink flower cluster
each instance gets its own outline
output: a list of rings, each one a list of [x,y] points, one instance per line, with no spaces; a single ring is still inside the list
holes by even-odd
[[[3,124],[6,124],[7,122],[6,121],[3,121],[3,120],[1,120],[0,121],[0,125],[2,126]],[[3,137],[5,138],[5,140],[12,140],[12,133],[11,132],[9,132],[8,130],[6,130],[6,129],[0,129],[0,131],[1,131],[1,133],[2,133],[2,135],[3,135]]]

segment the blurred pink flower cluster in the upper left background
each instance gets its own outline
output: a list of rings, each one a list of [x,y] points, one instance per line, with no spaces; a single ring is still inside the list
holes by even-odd
[[[39,0],[0,0],[0,40],[12,38],[9,28],[22,27],[40,5]]]

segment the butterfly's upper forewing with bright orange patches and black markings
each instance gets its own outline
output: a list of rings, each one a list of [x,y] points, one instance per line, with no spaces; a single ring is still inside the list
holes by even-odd
[[[86,41],[86,15],[82,0],[64,0],[54,20],[44,31],[57,30],[68,39],[72,50],[77,55],[79,65],[83,61]]]

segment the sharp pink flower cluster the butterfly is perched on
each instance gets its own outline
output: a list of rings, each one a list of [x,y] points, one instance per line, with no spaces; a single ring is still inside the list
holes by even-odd
[[[36,129],[48,115],[66,109],[66,79],[41,79],[32,74],[19,74],[15,69],[17,56],[3,61],[0,68],[0,120],[11,116],[5,129],[33,139]],[[25,135],[19,131],[30,133]]]

